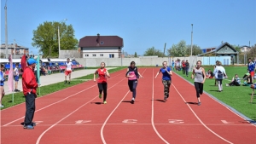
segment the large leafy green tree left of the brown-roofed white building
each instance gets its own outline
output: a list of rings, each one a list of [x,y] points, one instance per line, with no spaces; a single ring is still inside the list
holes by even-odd
[[[33,30],[32,46],[39,49],[44,57],[59,55],[58,26],[60,30],[61,49],[77,49],[79,41],[74,37],[73,26],[64,22],[45,21],[37,30]]]

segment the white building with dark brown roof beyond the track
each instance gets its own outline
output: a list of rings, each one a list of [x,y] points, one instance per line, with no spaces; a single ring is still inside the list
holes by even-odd
[[[118,36],[86,36],[79,40],[82,58],[120,58],[124,47]]]

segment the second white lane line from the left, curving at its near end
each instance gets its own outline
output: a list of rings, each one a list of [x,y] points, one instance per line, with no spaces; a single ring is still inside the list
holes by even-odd
[[[126,78],[123,78],[123,79],[120,80],[117,84],[119,84],[120,82],[122,82],[124,79],[126,79]],[[115,85],[117,85],[117,84],[114,84],[114,85],[113,85],[112,87],[110,87],[109,89],[112,89],[112,88],[113,88]],[[97,95],[95,98],[91,99],[90,101],[95,100],[97,97],[98,97],[98,95]],[[85,105],[87,105],[88,103],[90,103],[90,101],[84,103],[84,105],[82,105],[82,106],[80,106],[79,108],[75,109],[73,112],[69,113],[66,117],[61,118],[61,120],[59,120],[59,121],[56,122],[55,124],[52,124],[47,130],[44,130],[44,132],[43,132],[41,135],[39,135],[36,144],[38,144],[38,143],[40,142],[40,140],[42,139],[43,135],[44,135],[47,131],[49,131],[51,128],[53,128],[56,124],[61,123],[62,120],[66,119],[67,117],[69,117],[70,115],[72,115],[74,112],[79,111],[80,108],[82,108],[82,107],[84,107]]]

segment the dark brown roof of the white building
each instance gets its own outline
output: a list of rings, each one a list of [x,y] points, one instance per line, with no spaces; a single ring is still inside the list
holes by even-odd
[[[118,36],[100,36],[100,47],[124,47],[123,38]],[[97,47],[97,36],[86,36],[79,40],[80,48]]]

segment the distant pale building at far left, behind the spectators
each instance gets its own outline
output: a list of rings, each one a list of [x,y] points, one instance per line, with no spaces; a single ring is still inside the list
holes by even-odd
[[[1,44],[1,53],[3,55],[6,55],[5,53],[5,44]],[[24,54],[29,54],[29,49],[17,44],[8,44],[8,55],[24,55]]]

